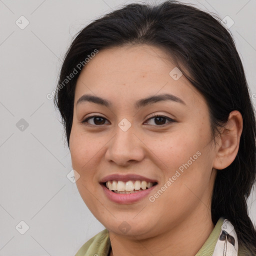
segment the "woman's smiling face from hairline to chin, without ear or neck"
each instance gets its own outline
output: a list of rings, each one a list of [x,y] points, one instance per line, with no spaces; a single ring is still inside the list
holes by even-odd
[[[146,238],[210,211],[208,107],[166,54],[148,45],[100,50],[76,83],[69,146],[77,188],[116,234]]]

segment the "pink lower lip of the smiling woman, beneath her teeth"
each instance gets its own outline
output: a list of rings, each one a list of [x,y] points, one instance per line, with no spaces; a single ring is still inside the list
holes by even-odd
[[[100,185],[102,186],[103,191],[108,199],[110,199],[113,202],[123,203],[123,204],[133,203],[133,202],[141,200],[142,198],[146,197],[156,186],[156,185],[154,185],[145,190],[130,193],[130,194],[119,194],[119,193],[115,193],[115,192],[109,190],[103,184],[100,184]]]

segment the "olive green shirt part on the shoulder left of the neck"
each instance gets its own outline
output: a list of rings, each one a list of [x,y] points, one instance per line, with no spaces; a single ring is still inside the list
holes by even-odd
[[[87,256],[87,255],[106,255],[110,249],[109,233],[107,229],[104,229],[86,241],[81,248],[76,252],[75,256]]]

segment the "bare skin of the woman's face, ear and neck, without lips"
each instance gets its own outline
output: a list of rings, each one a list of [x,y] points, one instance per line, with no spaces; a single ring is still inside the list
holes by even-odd
[[[216,169],[228,166],[238,151],[241,114],[230,113],[214,146],[205,99],[184,75],[178,80],[169,75],[176,65],[166,54],[148,45],[100,50],[76,83],[69,139],[72,167],[80,175],[76,185],[83,201],[109,231],[110,255],[195,255],[214,227],[210,196],[220,171]],[[103,97],[112,106],[76,105],[85,93]],[[174,94],[185,104],[166,100],[134,108],[136,100],[161,93]],[[92,115],[105,119],[81,123]],[[125,132],[118,126],[123,118],[131,124]],[[153,202],[146,196],[118,204],[99,184],[108,174],[136,173],[158,181],[149,194],[154,195],[197,151],[200,156]],[[130,227],[127,233],[118,228],[123,221]]]

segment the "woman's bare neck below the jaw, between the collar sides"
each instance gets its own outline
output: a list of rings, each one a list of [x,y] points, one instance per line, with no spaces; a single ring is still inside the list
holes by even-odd
[[[189,216],[171,230],[143,240],[109,231],[109,256],[194,256],[214,228],[210,213],[204,216]]]

